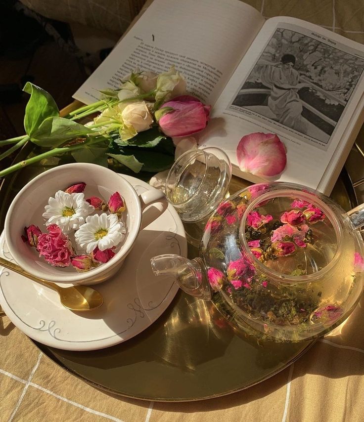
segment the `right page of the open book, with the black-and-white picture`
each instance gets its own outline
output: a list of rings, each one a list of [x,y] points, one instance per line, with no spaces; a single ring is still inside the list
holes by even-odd
[[[225,128],[212,125],[200,144],[227,150],[234,172],[256,182],[237,169],[236,146],[251,132],[276,133],[287,149],[278,180],[327,193],[344,146],[354,142],[347,128],[361,111],[363,72],[363,45],[298,19],[269,19],[215,105]]]

